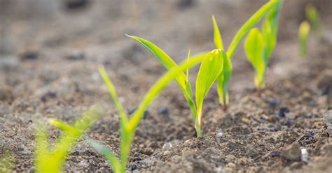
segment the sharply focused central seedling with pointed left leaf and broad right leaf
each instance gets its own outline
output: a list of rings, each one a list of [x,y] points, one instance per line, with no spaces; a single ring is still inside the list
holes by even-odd
[[[143,45],[146,50],[150,51],[155,56],[155,58],[157,58],[158,61],[162,63],[162,66],[164,66],[167,70],[178,67],[177,63],[175,63],[170,58],[170,56],[168,56],[158,46],[154,45],[148,40],[144,40],[143,38],[139,38],[136,36],[129,37],[136,40],[138,43]],[[224,56],[226,56],[226,53],[223,52],[223,50],[213,50],[212,52],[200,53],[195,56],[204,57],[200,66],[200,70],[198,72],[198,77],[196,79],[195,102],[193,99],[193,90],[191,89],[191,84],[189,82],[188,70],[186,74],[181,73],[175,78],[193,114],[196,135],[198,137],[202,135],[201,119],[203,101],[205,96],[209,92],[209,89],[211,89],[212,84],[219,76],[219,74],[223,71]],[[188,53],[188,59],[190,59],[190,52]]]

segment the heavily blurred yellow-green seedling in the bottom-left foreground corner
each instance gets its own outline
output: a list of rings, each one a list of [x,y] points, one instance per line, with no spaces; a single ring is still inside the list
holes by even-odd
[[[76,144],[85,130],[90,128],[102,116],[104,108],[96,105],[85,112],[75,123],[69,125],[56,119],[49,119],[52,126],[64,130],[54,146],[48,144],[46,127],[41,124],[36,128],[36,172],[61,172],[70,149]]]

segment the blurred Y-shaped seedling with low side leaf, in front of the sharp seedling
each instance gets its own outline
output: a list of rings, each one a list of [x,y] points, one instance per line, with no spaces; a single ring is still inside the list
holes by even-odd
[[[150,47],[153,49],[158,48],[155,46]],[[162,54],[160,51],[158,51],[158,53]],[[151,102],[158,96],[162,89],[167,86],[167,84],[169,84],[174,79],[179,80],[179,77],[185,77],[181,75],[184,73],[184,70],[188,70],[188,68],[197,65],[201,61],[205,61],[203,58],[205,58],[205,56],[194,57],[192,59],[186,60],[184,63],[181,63],[180,66],[174,66],[170,68],[170,70],[168,70],[168,72],[163,75],[157,82],[155,82],[151,89],[148,90],[138,109],[132,114],[130,118],[123,111],[123,107],[118,100],[118,95],[116,93],[114,84],[109,79],[106,70],[102,66],[99,68],[99,73],[106,83],[107,88],[109,89],[113,103],[116,105],[116,109],[118,110],[120,116],[120,158],[117,158],[113,151],[107,149],[102,144],[95,142],[95,140],[91,140],[88,137],[87,140],[97,151],[103,153],[104,156],[109,160],[109,163],[113,168],[113,172],[125,172],[125,170],[127,170],[127,160],[130,155],[130,147],[134,138],[134,133],[137,126],[139,125],[139,122],[143,118],[144,112],[148,108],[148,105],[151,104]],[[181,84],[184,84],[183,86],[188,86],[186,83],[188,82],[181,81]]]

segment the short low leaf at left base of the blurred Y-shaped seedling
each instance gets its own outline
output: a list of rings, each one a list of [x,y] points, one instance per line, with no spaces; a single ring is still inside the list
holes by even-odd
[[[95,140],[92,140],[88,137],[85,137],[85,140],[89,142],[89,144],[95,149],[97,150],[99,153],[102,153],[107,160],[109,160],[109,163],[111,164],[112,168],[113,168],[113,172],[116,173],[120,173],[121,172],[121,163],[118,160],[118,158],[116,158],[116,155],[109,149],[107,149],[104,145],[99,144],[98,142],[96,142]]]

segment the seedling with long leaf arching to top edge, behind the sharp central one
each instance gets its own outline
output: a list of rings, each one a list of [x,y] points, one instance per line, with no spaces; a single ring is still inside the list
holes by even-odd
[[[231,41],[228,50],[226,52],[226,57],[223,60],[223,72],[219,75],[217,78],[218,82],[218,95],[219,95],[219,102],[221,105],[223,105],[226,109],[226,106],[229,103],[229,94],[228,94],[228,82],[230,80],[230,77],[232,76],[232,63],[231,59],[233,59],[235,51],[237,50],[237,47],[240,45],[242,39],[244,36],[247,35],[247,33],[256,26],[256,24],[261,21],[261,19],[270,13],[273,9],[279,9],[280,6],[282,6],[282,0],[271,0],[268,3],[265,3],[264,6],[262,6],[259,10],[252,15],[247,22],[245,22],[242,27],[237,31],[235,34],[233,40]],[[216,20],[214,17],[212,17],[213,23],[214,23],[214,44],[216,45],[216,48],[219,50],[223,50],[223,42],[221,39],[221,34],[219,31],[219,27],[216,24]],[[273,22],[275,24],[275,20],[271,19],[270,22]],[[275,29],[271,29],[275,30]]]

